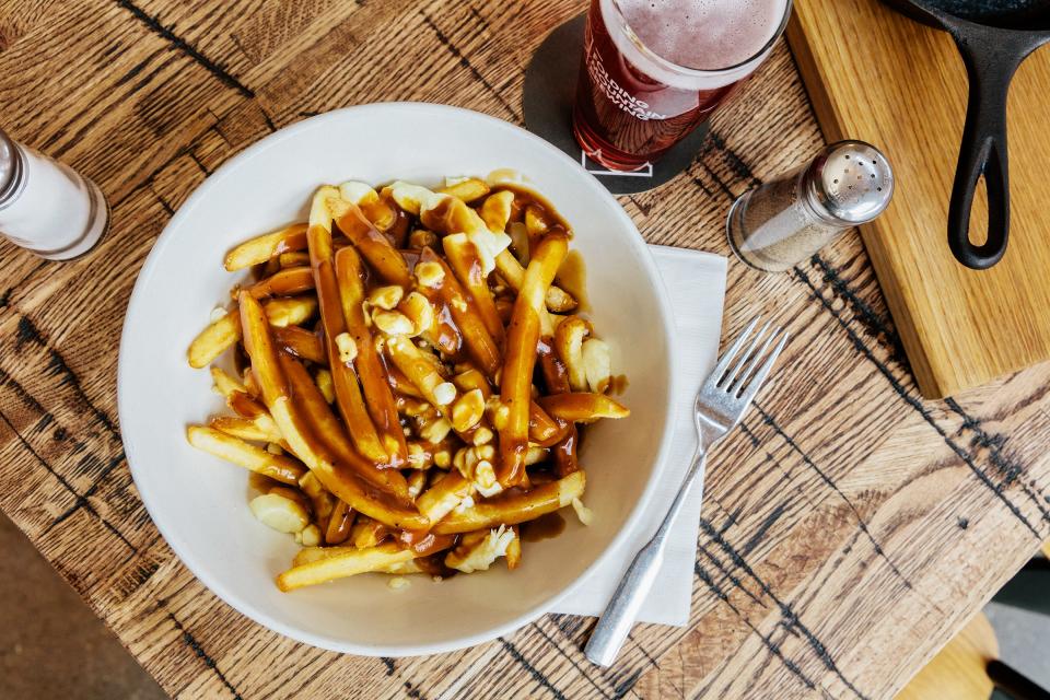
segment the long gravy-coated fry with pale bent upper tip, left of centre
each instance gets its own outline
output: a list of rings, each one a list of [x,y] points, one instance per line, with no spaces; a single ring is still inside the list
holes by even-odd
[[[317,189],[310,211],[310,229],[306,232],[310,260],[320,305],[320,318],[327,341],[328,368],[335,384],[339,412],[358,451],[373,462],[388,463],[390,455],[381,442],[372,417],[365,407],[358,377],[354,376],[350,364],[340,359],[339,348],[336,345],[339,337],[347,332],[347,320],[340,303],[339,283],[332,259],[331,220],[345,207],[353,207],[353,205],[345,202],[335,187],[325,186]],[[334,212],[332,209],[337,211]],[[360,215],[360,212],[358,214]],[[369,224],[369,229],[375,231],[372,224]],[[376,235],[382,237],[378,232]]]

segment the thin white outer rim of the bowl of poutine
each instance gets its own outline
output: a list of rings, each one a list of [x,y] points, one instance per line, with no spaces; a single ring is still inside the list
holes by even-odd
[[[174,240],[175,232],[183,225],[183,220],[189,217],[190,212],[197,208],[200,201],[208,195],[209,190],[212,189],[218,182],[233,176],[233,174],[240,170],[242,164],[249,162],[258,154],[276,147],[284,140],[293,139],[301,132],[311,129],[325,128],[325,126],[329,122],[338,124],[351,113],[355,117],[360,117],[362,115],[366,117],[369,113],[374,113],[374,118],[381,119],[384,113],[389,113],[390,110],[416,113],[421,117],[424,117],[428,113],[430,113],[443,116],[452,115],[453,117],[459,119],[477,119],[479,121],[487,122],[490,127],[502,129],[509,135],[513,133],[515,138],[524,137],[525,140],[530,141],[534,147],[545,149],[556,154],[556,158],[561,160],[568,167],[571,167],[578,174],[582,175],[583,177],[581,178],[581,184],[586,183],[586,186],[597,195],[598,199],[603,200],[606,206],[610,207],[615,211],[615,215],[623,222],[627,230],[633,233],[633,235],[628,236],[630,241],[629,245],[634,248],[634,252],[638,254],[638,260],[643,267],[646,276],[652,281],[654,293],[657,300],[660,325],[663,329],[666,340],[664,343],[665,352],[663,357],[663,366],[665,368],[665,374],[667,377],[665,409],[668,420],[664,425],[664,432],[656,450],[652,472],[650,474],[649,480],[645,483],[645,488],[643,489],[641,495],[625,520],[623,527],[621,527],[620,530],[612,536],[612,539],[609,541],[608,546],[594,559],[594,561],[592,561],[586,569],[580,573],[579,576],[564,586],[560,592],[550,595],[545,600],[533,606],[521,615],[517,615],[503,625],[490,628],[486,631],[450,638],[439,642],[365,645],[284,625],[280,620],[271,617],[266,609],[242,600],[232,588],[224,584],[221,578],[213,576],[208,570],[207,565],[198,561],[190,548],[180,540],[175,533],[175,529],[171,528],[168,523],[162,523],[156,517],[156,513],[161,512],[161,510],[159,502],[154,501],[153,494],[151,494],[149,490],[138,489],[139,479],[137,479],[136,476],[140,472],[140,467],[136,467],[136,462],[138,460],[137,446],[130,438],[125,435],[122,425],[127,422],[125,421],[125,406],[128,405],[131,392],[135,390],[132,383],[127,376],[131,370],[128,368],[126,358],[131,352],[130,346],[133,342],[130,339],[132,335],[130,326],[133,323],[133,319],[137,318],[141,313],[139,310],[143,305],[145,298],[145,292],[143,290],[145,289],[149,280],[153,277],[154,269],[160,265],[161,259],[164,257],[166,247]],[[117,415],[121,423],[120,438],[124,444],[128,468],[131,471],[132,480],[136,481],[136,488],[138,490],[139,498],[142,500],[147,512],[150,514],[150,520],[153,522],[153,525],[156,527],[158,532],[162,537],[164,537],[167,546],[172,548],[172,551],[176,557],[178,557],[179,561],[189,570],[189,572],[192,573],[192,575],[211,593],[213,593],[223,603],[232,607],[241,615],[244,615],[254,622],[267,629],[276,631],[298,642],[339,653],[357,654],[361,656],[404,657],[458,651],[489,642],[505,634],[513,633],[548,612],[551,608],[572,595],[573,592],[575,592],[597,568],[608,561],[615,552],[622,549],[622,545],[627,540],[628,536],[638,527],[641,520],[640,516],[652,501],[656,491],[656,487],[665,470],[665,463],[670,451],[675,423],[678,420],[678,416],[675,411],[674,390],[672,389],[674,377],[677,375],[676,368],[678,362],[677,353],[674,352],[674,345],[672,342],[672,332],[674,327],[674,315],[672,312],[669,294],[667,293],[660,270],[657,269],[648,245],[638,230],[638,226],[635,226],[634,222],[627,214],[616,198],[609,194],[608,189],[606,189],[605,186],[602,185],[596,177],[594,177],[594,175],[587,173],[580,166],[578,162],[555,145],[518,127],[517,125],[480,112],[452,105],[439,105],[425,102],[378,102],[342,107],[308,117],[301,121],[296,121],[295,124],[278,129],[277,131],[273,131],[272,133],[269,133],[258,141],[252,143],[240,153],[234,154],[221,166],[219,166],[211,175],[209,175],[200,185],[198,185],[186,199],[186,201],[183,202],[183,205],[178,208],[171,220],[168,220],[167,224],[164,226],[164,230],[160,233],[154,242],[149,255],[145,258],[145,261],[139,269],[138,275],[136,276],[135,287],[128,301],[128,307],[125,313],[124,324],[121,326],[119,354],[117,360]],[[142,467],[141,469],[142,474],[144,474],[145,468]]]

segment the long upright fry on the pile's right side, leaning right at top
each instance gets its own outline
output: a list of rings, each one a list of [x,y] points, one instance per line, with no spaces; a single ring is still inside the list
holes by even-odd
[[[500,400],[508,409],[505,424],[500,428],[500,483],[518,483],[525,472],[528,450],[528,413],[532,402],[533,370],[536,345],[539,342],[539,315],[545,310],[544,295],[569,250],[569,238],[551,233],[537,246],[522,289],[514,302],[514,315],[506,337],[506,354]]]

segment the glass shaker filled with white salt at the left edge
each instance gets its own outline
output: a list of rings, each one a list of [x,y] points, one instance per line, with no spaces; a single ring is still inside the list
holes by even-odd
[[[109,225],[98,187],[0,131],[0,234],[49,260],[90,250]]]

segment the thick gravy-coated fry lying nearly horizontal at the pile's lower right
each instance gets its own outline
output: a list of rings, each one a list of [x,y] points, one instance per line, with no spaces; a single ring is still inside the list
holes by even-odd
[[[563,479],[537,486],[528,491],[512,491],[453,511],[435,523],[431,532],[435,535],[455,535],[525,523],[571,504],[572,499],[583,495],[585,487],[586,477],[581,469]]]

